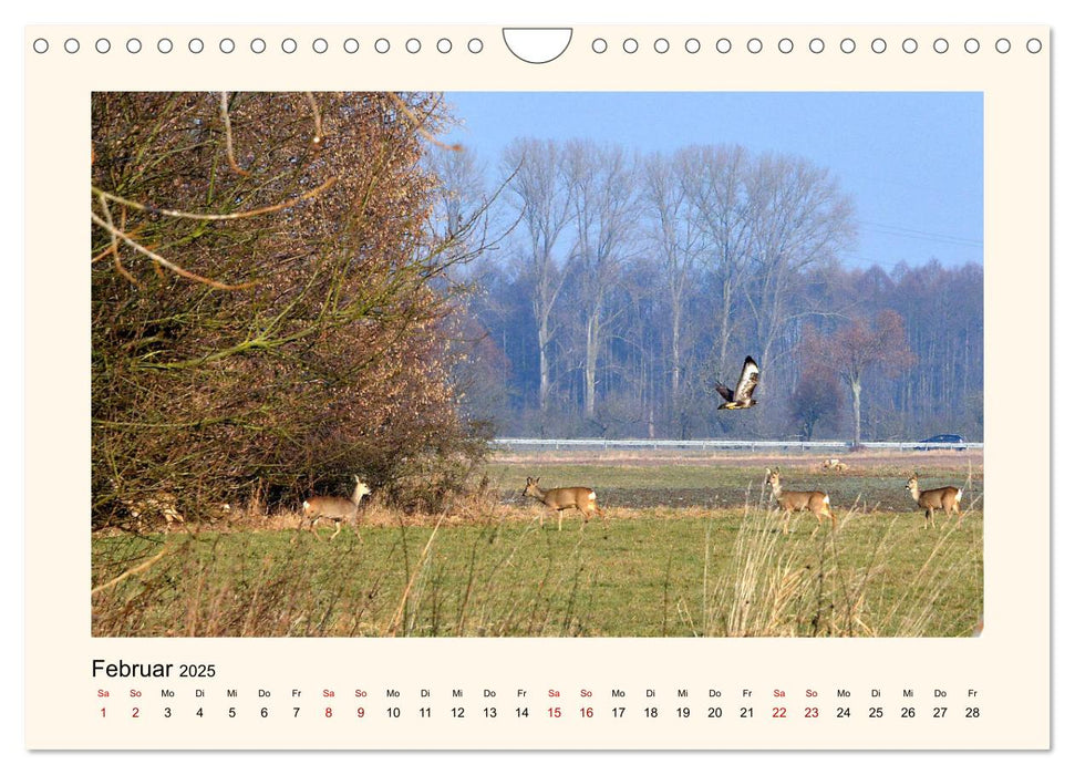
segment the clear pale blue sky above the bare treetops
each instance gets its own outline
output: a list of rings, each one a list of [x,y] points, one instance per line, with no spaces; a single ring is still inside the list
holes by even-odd
[[[979,92],[461,93],[449,140],[495,170],[515,137],[589,137],[641,152],[743,145],[828,168],[856,205],[854,266],[983,257]]]

